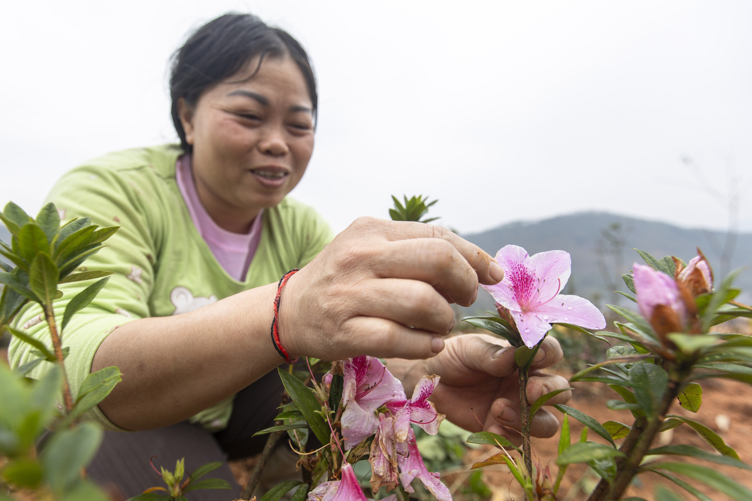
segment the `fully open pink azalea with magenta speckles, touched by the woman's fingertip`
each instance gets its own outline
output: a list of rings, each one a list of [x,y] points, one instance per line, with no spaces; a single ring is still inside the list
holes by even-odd
[[[522,247],[505,246],[496,261],[504,269],[504,279],[483,288],[509,310],[528,348],[538,344],[554,322],[605,328],[603,314],[590,301],[559,294],[572,273],[569,252],[538,252],[531,257]]]

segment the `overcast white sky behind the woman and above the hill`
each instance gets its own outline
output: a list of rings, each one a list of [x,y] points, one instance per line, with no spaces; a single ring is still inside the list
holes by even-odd
[[[168,57],[226,11],[313,59],[293,196],[335,230],[393,193],[439,198],[463,232],[581,210],[723,228],[703,186],[729,180],[752,230],[752,2],[720,0],[3,2],[0,203],[38,210],[75,164],[174,140]]]

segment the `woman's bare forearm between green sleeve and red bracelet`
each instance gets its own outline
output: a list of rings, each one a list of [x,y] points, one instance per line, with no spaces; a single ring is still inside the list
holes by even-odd
[[[269,338],[276,284],[196,311],[141,318],[99,346],[92,372],[117,366],[123,381],[99,409],[119,427],[174,424],[235,394],[283,362]]]

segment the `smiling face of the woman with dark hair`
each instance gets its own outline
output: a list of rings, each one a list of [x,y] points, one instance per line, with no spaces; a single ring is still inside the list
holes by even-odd
[[[311,97],[290,57],[258,59],[205,92],[193,109],[180,103],[193,176],[210,213],[274,207],[300,181],[314,150]],[[242,82],[242,83],[236,83]],[[208,200],[205,200],[208,198]]]

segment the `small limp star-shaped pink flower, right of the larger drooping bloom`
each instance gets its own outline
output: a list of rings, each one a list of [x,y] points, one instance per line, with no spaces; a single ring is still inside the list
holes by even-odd
[[[387,402],[387,409],[390,409],[394,415],[394,433],[398,442],[405,442],[408,439],[411,423],[417,424],[429,435],[438,433],[438,425],[447,416],[436,412],[435,406],[428,401],[428,397],[438,385],[439,379],[441,378],[435,374],[423,376],[415,385],[415,391],[410,400]]]

